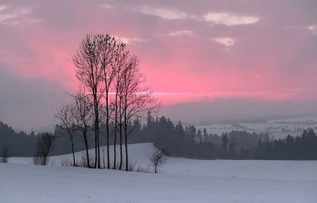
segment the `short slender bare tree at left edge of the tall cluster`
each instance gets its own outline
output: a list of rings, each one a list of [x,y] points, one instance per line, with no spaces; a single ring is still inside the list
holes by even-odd
[[[73,115],[73,104],[62,105],[58,107],[54,114],[58,127],[66,133],[70,140],[73,153],[73,166],[76,166],[75,162],[75,150],[74,150],[74,138],[75,138],[75,120]]]

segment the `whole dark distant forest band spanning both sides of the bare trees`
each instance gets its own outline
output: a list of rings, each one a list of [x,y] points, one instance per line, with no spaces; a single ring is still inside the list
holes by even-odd
[[[101,135],[106,135],[104,124],[100,126]],[[113,129],[113,125],[111,125]],[[132,133],[128,143],[154,143],[156,148],[172,157],[192,159],[317,159],[317,136],[313,129],[305,130],[302,135],[284,139],[273,139],[267,133],[248,133],[231,131],[221,135],[207,133],[195,126],[173,124],[166,117],[154,117],[149,113],[146,124],[135,121],[130,123]],[[93,148],[94,136],[91,131],[89,148]],[[56,126],[56,141],[51,155],[71,153],[70,141],[63,130]],[[82,136],[75,136],[75,152],[85,150]],[[14,157],[32,157],[35,155],[35,133],[15,132],[11,126],[0,122],[0,149],[8,147]],[[105,145],[106,137],[101,139]],[[113,141],[111,141],[113,143]]]

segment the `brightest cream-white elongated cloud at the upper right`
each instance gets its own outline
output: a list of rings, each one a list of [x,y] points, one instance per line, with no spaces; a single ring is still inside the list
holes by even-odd
[[[236,15],[233,13],[207,13],[204,20],[227,26],[248,25],[259,22],[259,17],[251,15]]]

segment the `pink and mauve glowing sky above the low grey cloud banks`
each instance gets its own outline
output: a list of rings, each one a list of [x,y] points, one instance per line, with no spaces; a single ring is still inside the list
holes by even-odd
[[[271,6],[220,1],[192,10],[166,2],[48,2],[0,5],[0,62],[18,77],[44,77],[75,89],[71,55],[85,33],[104,32],[128,44],[166,105],[214,98],[316,99],[316,22],[302,16],[309,5],[297,11],[298,22],[291,12],[272,14]],[[279,20],[272,22],[272,16]],[[286,32],[292,19],[306,29]]]

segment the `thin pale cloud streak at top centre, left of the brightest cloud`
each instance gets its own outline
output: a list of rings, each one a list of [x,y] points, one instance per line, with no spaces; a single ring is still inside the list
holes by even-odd
[[[154,8],[149,6],[132,6],[130,11],[142,13],[144,15],[154,15],[165,20],[185,20],[189,18],[187,13],[169,8]]]

